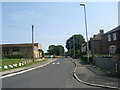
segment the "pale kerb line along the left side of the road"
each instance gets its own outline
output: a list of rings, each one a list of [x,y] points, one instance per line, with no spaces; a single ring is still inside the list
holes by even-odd
[[[31,70],[34,70],[34,69],[46,66],[46,65],[50,64],[51,62],[53,62],[55,60],[52,60],[52,61],[50,61],[48,63],[43,64],[43,65],[40,65],[40,66],[37,66],[37,67],[34,67],[34,68],[30,68],[30,69],[27,69],[27,70],[24,70],[24,71],[21,71],[21,72],[16,72],[16,73],[8,74],[8,75],[5,75],[5,76],[1,76],[0,79],[1,78],[6,78],[6,77],[10,77],[10,76],[14,76],[14,75],[18,75],[18,74],[22,74],[22,73],[25,73],[25,72],[28,72],[28,71],[31,71]]]

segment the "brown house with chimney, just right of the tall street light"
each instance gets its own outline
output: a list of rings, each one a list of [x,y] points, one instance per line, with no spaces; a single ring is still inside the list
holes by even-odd
[[[90,52],[91,54],[102,54],[102,39],[101,36],[104,34],[104,30],[100,30],[100,33],[93,35],[90,38]]]

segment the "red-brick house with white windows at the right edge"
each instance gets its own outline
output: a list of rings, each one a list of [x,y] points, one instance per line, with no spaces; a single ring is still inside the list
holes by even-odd
[[[120,53],[120,26],[102,35],[102,53]]]

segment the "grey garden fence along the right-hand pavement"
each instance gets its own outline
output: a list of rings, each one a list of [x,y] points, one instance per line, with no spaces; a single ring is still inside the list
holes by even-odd
[[[106,57],[93,57],[93,64],[113,74],[120,72],[120,60]]]

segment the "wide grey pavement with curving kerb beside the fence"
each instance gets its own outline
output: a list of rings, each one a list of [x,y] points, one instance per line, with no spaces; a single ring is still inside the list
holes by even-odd
[[[74,72],[79,81],[92,86],[120,89],[120,77],[107,74],[83,61],[77,59],[74,59],[74,61],[76,63]]]

